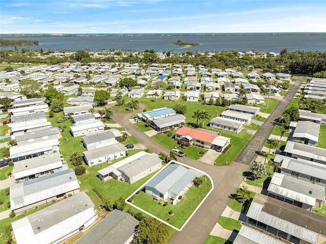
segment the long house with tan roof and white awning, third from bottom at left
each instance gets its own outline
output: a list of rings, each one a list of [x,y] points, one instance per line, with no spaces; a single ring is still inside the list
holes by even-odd
[[[62,171],[63,167],[68,169],[67,165],[63,164],[60,153],[50,153],[14,162],[14,177],[16,182],[20,182],[50,174],[51,171]]]

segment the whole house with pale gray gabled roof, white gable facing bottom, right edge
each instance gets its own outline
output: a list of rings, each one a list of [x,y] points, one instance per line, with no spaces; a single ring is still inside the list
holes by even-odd
[[[298,121],[292,139],[304,144],[317,146],[320,125],[311,121]],[[325,135],[324,135],[325,136]]]

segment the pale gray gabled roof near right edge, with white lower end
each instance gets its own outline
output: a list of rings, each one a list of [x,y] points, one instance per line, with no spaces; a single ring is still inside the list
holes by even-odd
[[[318,142],[320,125],[311,121],[300,120],[293,132],[293,138],[307,138]]]

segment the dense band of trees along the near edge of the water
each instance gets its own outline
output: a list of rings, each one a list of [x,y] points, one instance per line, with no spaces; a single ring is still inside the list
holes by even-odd
[[[46,53],[45,53],[46,54]],[[107,53],[102,53],[107,56]],[[177,64],[192,64],[192,65],[204,65],[208,68],[233,68],[239,67],[240,69],[247,68],[248,66],[254,66],[260,68],[265,72],[291,72],[300,74],[314,74],[324,75],[323,71],[326,70],[326,52],[303,52],[283,49],[281,55],[274,57],[267,54],[267,57],[253,57],[250,55],[244,55],[240,57],[237,51],[221,51],[215,53],[213,56],[208,57],[208,52],[202,55],[199,52],[186,51],[184,53],[169,53],[167,58],[159,59],[155,52],[152,50],[145,50],[142,58],[134,56],[132,53],[129,55],[120,56],[119,58],[106,57],[91,58],[87,50],[78,50],[74,55],[70,57],[48,57],[46,59],[40,59],[33,51],[21,50],[0,50],[0,57],[4,62],[22,62],[22,63],[44,63],[58,64],[63,62],[75,62],[82,63],[90,62],[128,62],[128,63],[177,63]]]

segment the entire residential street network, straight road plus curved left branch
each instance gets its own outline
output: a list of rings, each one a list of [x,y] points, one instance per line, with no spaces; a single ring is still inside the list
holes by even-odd
[[[297,82],[291,87],[290,91],[280,101],[275,111],[266,119],[266,122],[253,135],[253,138],[246,147],[241,151],[235,161],[229,166],[213,166],[203,162],[193,160],[188,157],[178,158],[178,161],[189,166],[196,167],[204,172],[207,172],[214,182],[214,190],[193,218],[188,222],[184,229],[179,232],[171,243],[204,243],[209,233],[216,224],[216,221],[225,210],[229,201],[230,194],[234,193],[236,188],[243,180],[242,172],[248,170],[249,165],[255,159],[258,151],[264,145],[266,139],[274,128],[274,120],[280,117],[281,113],[286,109],[289,102],[295,95],[295,92],[302,84],[303,79],[298,78]],[[170,153],[170,150],[150,137],[144,132],[133,126],[129,122],[129,118],[143,111],[144,106],[141,105],[140,110],[129,114],[116,113],[113,110],[113,119],[132,134],[140,143],[153,151],[154,153],[164,152]]]

